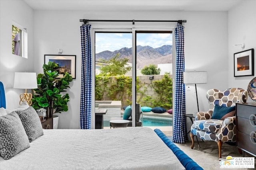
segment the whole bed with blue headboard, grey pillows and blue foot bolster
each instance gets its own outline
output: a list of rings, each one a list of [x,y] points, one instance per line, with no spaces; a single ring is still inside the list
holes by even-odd
[[[42,129],[33,107],[5,106],[0,82],[0,170],[202,170],[159,129]]]

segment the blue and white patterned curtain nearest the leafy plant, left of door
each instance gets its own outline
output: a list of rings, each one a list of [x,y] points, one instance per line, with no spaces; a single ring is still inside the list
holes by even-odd
[[[92,104],[92,48],[90,37],[91,25],[83,24],[81,31],[81,102],[80,129],[91,129]]]

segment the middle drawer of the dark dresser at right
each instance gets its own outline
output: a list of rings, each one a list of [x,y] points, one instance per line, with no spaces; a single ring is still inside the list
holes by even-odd
[[[254,123],[254,121],[251,120],[251,123]],[[245,133],[247,135],[250,135],[252,131],[256,132],[256,126],[252,126],[254,124],[251,124],[249,119],[245,119],[244,117],[237,117],[236,125],[237,131],[240,131],[242,133]]]

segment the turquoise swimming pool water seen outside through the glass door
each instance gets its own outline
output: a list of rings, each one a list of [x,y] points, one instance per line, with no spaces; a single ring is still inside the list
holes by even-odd
[[[109,124],[109,121],[104,120],[104,127],[109,127]],[[172,117],[144,115],[142,126],[172,126]]]

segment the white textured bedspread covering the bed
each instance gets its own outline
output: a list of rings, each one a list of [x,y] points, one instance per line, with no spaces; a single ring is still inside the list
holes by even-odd
[[[148,127],[48,129],[1,170],[184,170]]]

